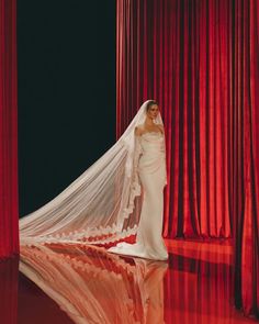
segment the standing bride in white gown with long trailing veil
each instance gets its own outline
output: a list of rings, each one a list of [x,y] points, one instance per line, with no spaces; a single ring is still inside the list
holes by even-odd
[[[50,181],[50,179],[49,179]],[[165,260],[166,150],[156,101],[147,100],[119,141],[52,201],[20,220],[21,245],[93,244]]]

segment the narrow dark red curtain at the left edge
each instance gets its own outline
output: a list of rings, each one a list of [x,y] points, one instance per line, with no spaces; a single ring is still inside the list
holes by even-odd
[[[15,15],[15,0],[0,0],[0,257],[19,252]]]

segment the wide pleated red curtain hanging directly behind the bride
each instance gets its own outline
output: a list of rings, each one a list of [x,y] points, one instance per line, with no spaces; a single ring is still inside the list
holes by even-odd
[[[233,1],[117,1],[117,136],[158,100],[167,138],[166,237],[229,237]]]

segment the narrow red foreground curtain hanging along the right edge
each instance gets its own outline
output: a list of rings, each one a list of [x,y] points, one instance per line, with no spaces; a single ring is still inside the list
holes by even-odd
[[[259,317],[259,2],[235,2],[235,297]]]

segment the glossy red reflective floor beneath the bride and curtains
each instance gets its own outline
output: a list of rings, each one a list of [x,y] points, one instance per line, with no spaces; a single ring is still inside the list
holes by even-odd
[[[229,241],[167,246],[169,261],[78,245],[22,247],[20,264],[0,262],[0,323],[256,322],[234,308]]]

